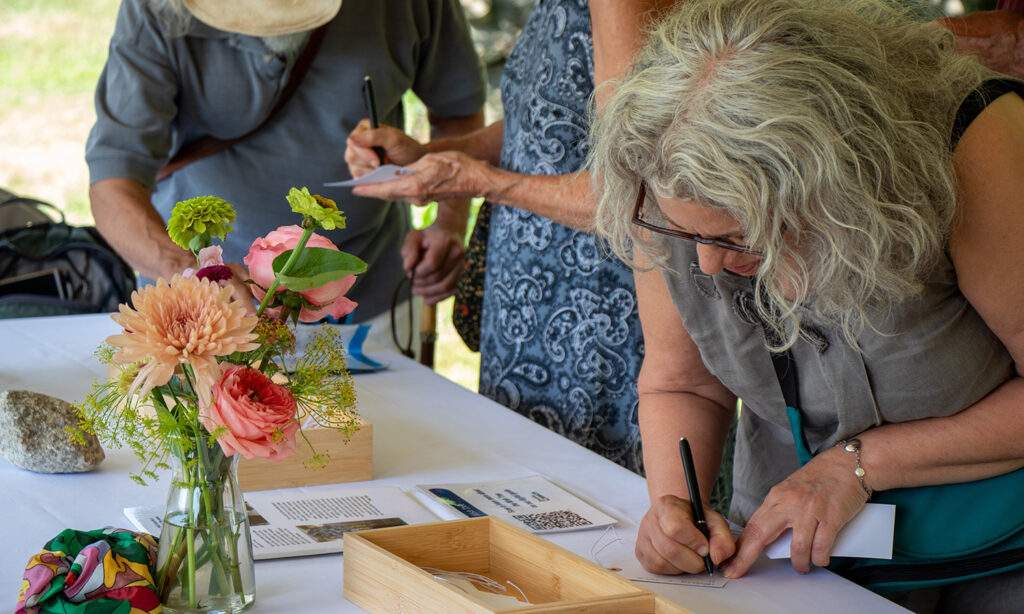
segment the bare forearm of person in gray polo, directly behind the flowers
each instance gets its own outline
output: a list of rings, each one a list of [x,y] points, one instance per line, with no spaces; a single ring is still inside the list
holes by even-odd
[[[170,279],[195,266],[195,258],[167,235],[151,191],[131,179],[103,179],[89,186],[96,229],[141,274]]]

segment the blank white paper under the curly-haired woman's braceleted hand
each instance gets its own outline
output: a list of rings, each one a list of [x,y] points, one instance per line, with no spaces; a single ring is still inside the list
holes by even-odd
[[[854,557],[858,559],[892,559],[893,530],[896,524],[896,506],[888,503],[867,503],[859,514],[843,527],[833,546],[834,557]],[[769,559],[788,559],[793,530],[765,547]]]

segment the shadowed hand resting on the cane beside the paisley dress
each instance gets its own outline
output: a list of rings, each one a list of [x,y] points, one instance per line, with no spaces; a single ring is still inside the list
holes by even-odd
[[[411,231],[401,246],[402,266],[415,271],[413,294],[427,305],[455,294],[465,258],[462,235],[436,224]]]

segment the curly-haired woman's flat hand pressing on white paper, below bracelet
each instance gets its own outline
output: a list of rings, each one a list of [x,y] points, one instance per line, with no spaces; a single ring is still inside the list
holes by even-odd
[[[849,456],[849,457],[847,457]],[[800,573],[828,565],[836,535],[867,501],[853,475],[853,455],[842,448],[819,453],[776,484],[736,540],[736,556],[723,568],[726,577],[746,573],[765,546],[793,529],[791,560]]]

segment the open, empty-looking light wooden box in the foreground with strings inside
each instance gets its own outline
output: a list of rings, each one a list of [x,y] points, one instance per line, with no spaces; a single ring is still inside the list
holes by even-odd
[[[546,539],[490,517],[346,533],[345,599],[371,614],[687,614]],[[512,581],[529,603],[490,609],[421,567]]]

